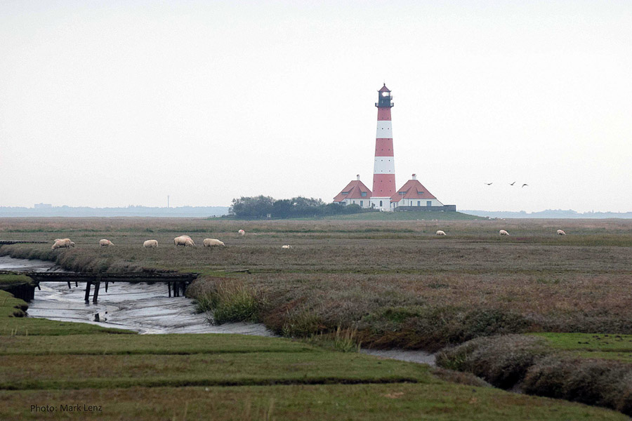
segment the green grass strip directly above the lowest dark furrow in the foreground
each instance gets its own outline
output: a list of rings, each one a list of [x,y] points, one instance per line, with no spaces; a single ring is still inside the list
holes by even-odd
[[[336,352],[0,356],[0,389],[439,382],[428,366]]]

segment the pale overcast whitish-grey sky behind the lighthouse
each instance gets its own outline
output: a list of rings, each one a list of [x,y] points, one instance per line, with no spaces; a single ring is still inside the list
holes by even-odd
[[[632,211],[616,0],[0,1],[0,206],[329,202],[371,188],[383,83],[398,187]]]

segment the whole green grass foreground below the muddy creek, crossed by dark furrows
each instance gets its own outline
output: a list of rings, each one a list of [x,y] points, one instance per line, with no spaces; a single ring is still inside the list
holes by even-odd
[[[25,306],[13,300],[5,307]],[[70,325],[0,335],[1,420],[626,419],[283,338],[77,334]]]

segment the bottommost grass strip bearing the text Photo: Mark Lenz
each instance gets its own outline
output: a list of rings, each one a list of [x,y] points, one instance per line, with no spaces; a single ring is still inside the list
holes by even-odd
[[[53,405],[35,413],[34,403]],[[101,406],[62,413],[60,403]],[[438,384],[133,387],[0,392],[0,419],[39,420],[623,421],[600,408],[495,389]]]

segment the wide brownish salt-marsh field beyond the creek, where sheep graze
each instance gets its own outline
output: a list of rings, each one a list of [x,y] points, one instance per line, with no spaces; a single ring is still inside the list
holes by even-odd
[[[240,228],[246,236],[237,235]],[[447,236],[435,236],[437,229]],[[198,246],[176,249],[180,234]],[[5,218],[0,237],[69,237],[77,248],[2,246],[0,254],[82,272],[199,272],[189,293],[219,321],[262,321],[288,337],[343,329],[363,347],[433,351],[506,333],[632,334],[626,220]],[[226,246],[201,247],[207,237]],[[116,246],[99,248],[102,238]],[[144,249],[146,239],[159,247]],[[249,273],[233,272],[244,269]],[[567,352],[629,362],[626,349]]]

